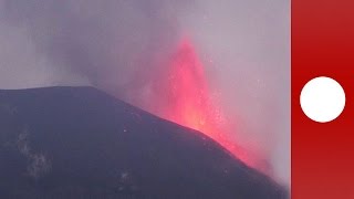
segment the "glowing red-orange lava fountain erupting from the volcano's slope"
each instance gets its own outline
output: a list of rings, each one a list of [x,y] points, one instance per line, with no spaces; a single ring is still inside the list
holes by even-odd
[[[256,166],[246,150],[239,147],[228,134],[221,130],[222,113],[210,98],[210,92],[204,72],[192,44],[183,40],[171,63],[167,69],[164,86],[165,108],[159,109],[162,117],[197,129],[218,142],[249,166]]]

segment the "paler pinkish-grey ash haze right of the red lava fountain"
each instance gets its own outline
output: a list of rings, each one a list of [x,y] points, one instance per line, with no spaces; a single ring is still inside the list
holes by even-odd
[[[290,185],[290,1],[198,1],[183,17],[235,139]],[[222,2],[222,3],[221,3]]]

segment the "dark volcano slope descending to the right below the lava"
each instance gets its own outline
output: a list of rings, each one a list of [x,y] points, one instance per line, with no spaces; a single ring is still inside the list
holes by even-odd
[[[195,130],[90,87],[0,91],[0,198],[280,199]]]

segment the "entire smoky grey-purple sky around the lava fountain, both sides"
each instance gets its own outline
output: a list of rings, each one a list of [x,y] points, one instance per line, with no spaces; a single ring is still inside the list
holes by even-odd
[[[0,0],[0,88],[93,85],[144,104],[186,34],[235,139],[289,185],[288,0]]]

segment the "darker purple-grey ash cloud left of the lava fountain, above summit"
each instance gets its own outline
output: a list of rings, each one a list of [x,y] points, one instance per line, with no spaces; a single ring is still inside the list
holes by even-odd
[[[1,74],[12,80],[1,78],[1,85],[28,87],[32,80],[38,85],[75,81],[115,92],[142,86],[144,80],[134,80],[137,73],[152,76],[146,74],[160,65],[177,40],[181,6],[163,0],[2,0],[7,31],[1,49],[13,50],[1,64]],[[18,78],[18,71],[33,73]]]

